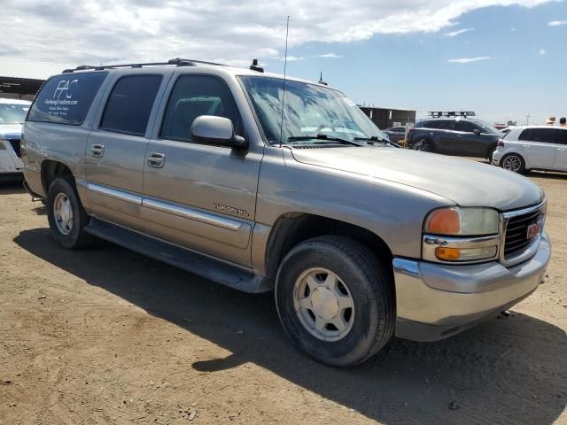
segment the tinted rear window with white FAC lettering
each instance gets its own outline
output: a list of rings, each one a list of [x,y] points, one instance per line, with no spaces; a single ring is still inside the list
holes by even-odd
[[[108,73],[56,75],[43,84],[27,121],[80,126]]]

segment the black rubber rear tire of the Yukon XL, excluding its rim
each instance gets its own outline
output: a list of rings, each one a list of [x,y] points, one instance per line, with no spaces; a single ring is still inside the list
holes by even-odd
[[[55,198],[59,193],[64,194],[69,199],[71,209],[73,210],[73,228],[68,235],[62,234],[55,222],[53,206]],[[51,235],[65,248],[74,248],[81,237],[82,227],[84,226],[81,208],[79,196],[70,182],[66,181],[66,179],[58,178],[51,183],[47,194],[47,220],[50,224]]]

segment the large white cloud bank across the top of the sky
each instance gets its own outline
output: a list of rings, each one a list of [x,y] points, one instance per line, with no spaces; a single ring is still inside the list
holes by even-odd
[[[552,0],[2,0],[0,56],[76,64],[175,57],[246,64],[289,46],[435,33],[488,6]],[[330,7],[332,6],[332,7]],[[22,30],[28,28],[28,30]]]

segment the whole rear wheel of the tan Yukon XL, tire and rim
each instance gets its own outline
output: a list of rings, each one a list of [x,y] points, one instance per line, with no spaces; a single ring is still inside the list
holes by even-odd
[[[89,215],[82,208],[74,185],[63,177],[51,183],[47,193],[47,219],[51,234],[68,249],[89,245],[93,236],[84,231]]]

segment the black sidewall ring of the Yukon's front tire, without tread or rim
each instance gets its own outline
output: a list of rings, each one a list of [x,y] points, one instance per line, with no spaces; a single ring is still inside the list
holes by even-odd
[[[324,243],[314,242],[310,245],[292,250],[283,260],[277,274],[276,307],[280,321],[293,344],[318,361],[331,366],[356,363],[369,352],[369,347],[377,338],[377,332],[381,326],[384,327],[379,319],[380,303],[368,277],[343,251]],[[311,335],[295,312],[295,282],[299,274],[312,267],[324,267],[337,274],[353,298],[353,327],[338,341],[325,342]]]

